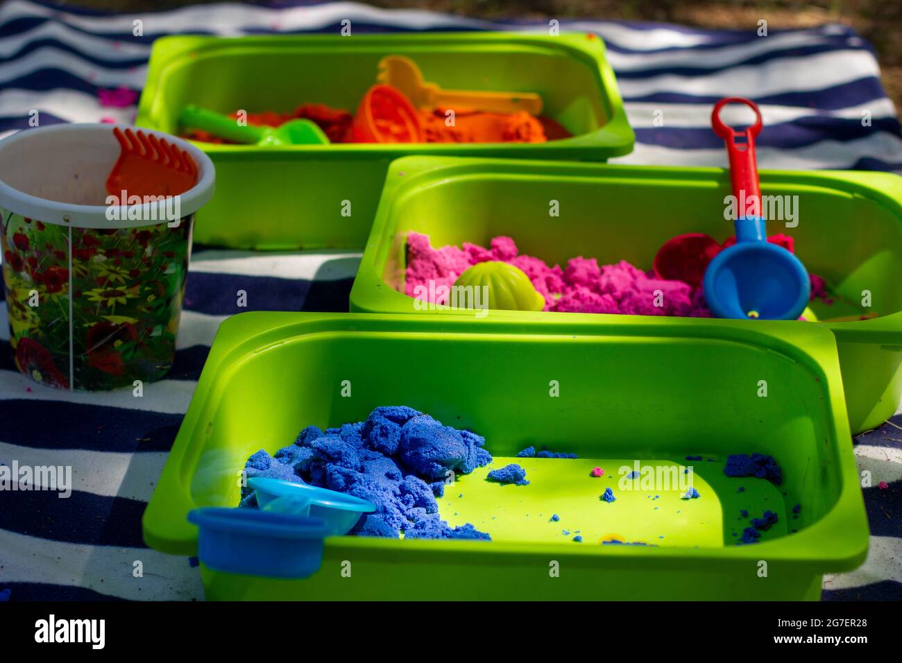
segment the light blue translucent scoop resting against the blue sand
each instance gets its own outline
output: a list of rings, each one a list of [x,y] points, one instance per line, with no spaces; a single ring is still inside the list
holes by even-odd
[[[261,511],[323,520],[329,534],[335,536],[347,534],[364,513],[376,510],[373,502],[308,483],[255,476],[247,485],[257,493]]]

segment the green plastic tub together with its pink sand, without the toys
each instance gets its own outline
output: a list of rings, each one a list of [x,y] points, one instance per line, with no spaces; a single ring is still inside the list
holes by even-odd
[[[698,281],[653,272],[677,235],[710,235],[715,252],[732,244],[726,170],[438,157],[391,165],[351,310],[537,321],[645,315],[662,328],[814,324],[836,337],[852,431],[879,426],[902,398],[902,180],[764,170],[760,186],[796,204],[796,220],[771,221],[769,233],[812,275],[806,322],[710,318]],[[485,261],[529,275],[542,309],[451,300],[461,274]]]

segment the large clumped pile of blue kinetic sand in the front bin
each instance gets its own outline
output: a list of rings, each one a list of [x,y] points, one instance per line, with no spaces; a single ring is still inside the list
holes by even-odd
[[[253,479],[272,478],[372,503],[374,510],[352,525],[354,535],[397,538],[410,530],[411,538],[487,539],[466,523],[450,527],[433,518],[445,482],[492,462],[484,444],[484,437],[419,410],[379,407],[365,421],[339,428],[308,426],[275,456],[253,454],[245,465],[248,487],[240,506],[262,506],[252,501]]]

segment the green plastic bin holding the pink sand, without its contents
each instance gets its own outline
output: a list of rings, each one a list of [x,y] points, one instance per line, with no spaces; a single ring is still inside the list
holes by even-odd
[[[791,235],[809,272],[820,274],[843,298],[870,290],[879,318],[798,323],[654,318],[661,328],[684,326],[782,330],[816,325],[836,336],[853,432],[875,428],[902,398],[902,178],[876,172],[762,170],[767,195],[798,196],[798,225],[772,221],[769,232]],[[351,310],[374,313],[415,308],[403,290],[409,231],[430,235],[434,246],[488,245],[510,235],[521,253],[566,264],[577,255],[599,264],[632,262],[650,269],[661,244],[682,233],[733,234],[723,218],[729,173],[720,169],[610,166],[410,157],[391,165],[373,233],[351,291]],[[549,216],[557,200],[560,216]],[[819,317],[853,312],[813,302]],[[864,309],[862,309],[864,310]],[[451,310],[473,318],[472,310]],[[496,312],[519,320],[548,317],[616,321],[620,316]]]

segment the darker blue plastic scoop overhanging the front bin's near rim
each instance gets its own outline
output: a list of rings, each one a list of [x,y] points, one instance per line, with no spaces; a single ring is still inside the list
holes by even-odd
[[[207,507],[189,511],[198,526],[198,558],[216,571],[306,578],[323,563],[325,522],[307,516]]]

